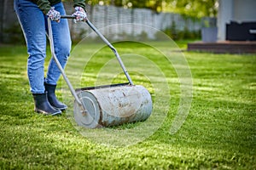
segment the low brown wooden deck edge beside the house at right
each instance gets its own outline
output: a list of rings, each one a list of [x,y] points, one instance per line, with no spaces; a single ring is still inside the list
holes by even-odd
[[[216,54],[256,54],[256,42],[192,42],[188,51],[201,51]]]

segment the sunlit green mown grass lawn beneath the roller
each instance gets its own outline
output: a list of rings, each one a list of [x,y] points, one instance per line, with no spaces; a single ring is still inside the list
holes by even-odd
[[[167,42],[154,45],[170,56],[184,54],[187,59],[193,81],[189,115],[177,133],[170,133],[182,94],[177,70],[183,65],[170,65],[152,46],[117,42],[115,46],[121,56],[137,54],[143,56],[138,59],[150,60],[149,64],[137,62],[137,65],[130,65],[130,61],[125,60],[125,64],[128,62],[126,67],[131,70],[133,81],[143,84],[152,94],[158,108],[152,117],[166,114],[152,134],[127,146],[104,144],[108,140],[105,136],[98,136],[102,139],[99,142],[83,133],[123,132],[147,122],[83,131],[78,130],[72,121],[72,104],[62,116],[34,113],[26,77],[26,47],[0,47],[0,168],[256,169],[256,55],[181,54],[170,48]],[[182,42],[179,45],[184,47]],[[84,59],[88,55],[93,57]],[[111,77],[113,72],[108,72],[112,69],[105,64],[113,57],[108,48],[82,44],[73,49],[67,64],[67,76],[75,87],[109,82],[109,78],[112,78],[111,82],[125,82],[121,73]],[[49,57],[46,64],[48,62]],[[113,68],[111,63],[109,65]],[[106,71],[101,71],[105,67]],[[158,89],[164,87],[163,80],[167,88]],[[62,78],[58,84],[58,96],[63,101],[73,101],[68,90],[67,93],[61,91],[61,84],[65,88]],[[116,140],[125,142],[118,137]]]

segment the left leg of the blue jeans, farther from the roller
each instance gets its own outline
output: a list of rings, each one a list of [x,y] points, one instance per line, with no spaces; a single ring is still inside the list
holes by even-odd
[[[15,0],[15,13],[26,39],[27,75],[32,94],[44,93],[44,59],[46,57],[45,19],[35,3]]]

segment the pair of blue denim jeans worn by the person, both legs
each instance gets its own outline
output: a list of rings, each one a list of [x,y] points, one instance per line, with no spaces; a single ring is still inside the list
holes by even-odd
[[[44,94],[44,82],[56,85],[61,71],[50,59],[47,76],[44,78],[44,59],[46,57],[46,35],[48,32],[47,16],[38,8],[38,5],[29,0],[15,0],[15,13],[20,21],[20,26],[26,39],[27,75],[32,94]],[[62,3],[54,5],[55,10],[61,15],[66,14]],[[60,23],[51,21],[55,55],[59,59],[62,68],[67,64],[67,58],[71,50],[71,38],[67,19],[61,19]]]

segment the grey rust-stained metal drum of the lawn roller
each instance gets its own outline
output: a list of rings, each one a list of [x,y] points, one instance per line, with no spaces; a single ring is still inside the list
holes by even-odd
[[[141,85],[121,85],[109,88],[77,91],[87,113],[74,105],[74,119],[81,127],[111,127],[127,122],[141,122],[152,112],[152,99]]]

